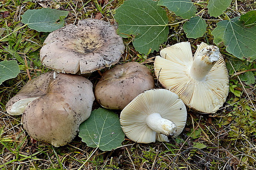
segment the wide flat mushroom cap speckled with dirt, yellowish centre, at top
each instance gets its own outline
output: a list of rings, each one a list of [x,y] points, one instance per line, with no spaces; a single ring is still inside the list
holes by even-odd
[[[40,51],[43,65],[55,71],[82,74],[116,64],[124,52],[116,28],[102,20],[79,20],[48,35]]]

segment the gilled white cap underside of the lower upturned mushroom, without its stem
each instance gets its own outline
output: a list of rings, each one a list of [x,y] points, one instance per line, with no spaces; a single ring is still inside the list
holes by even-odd
[[[166,89],[151,89],[139,94],[121,112],[120,123],[125,135],[134,142],[150,143],[156,140],[169,142],[164,134],[156,133],[145,122],[148,115],[159,113],[162,118],[175,123],[174,137],[186,125],[186,106],[177,94]]]

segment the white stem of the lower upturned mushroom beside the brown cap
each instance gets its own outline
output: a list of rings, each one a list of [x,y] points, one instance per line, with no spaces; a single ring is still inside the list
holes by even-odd
[[[159,113],[152,113],[147,116],[146,122],[148,127],[157,133],[162,133],[165,135],[174,135],[176,133],[177,127],[175,123],[168,119],[162,118]]]

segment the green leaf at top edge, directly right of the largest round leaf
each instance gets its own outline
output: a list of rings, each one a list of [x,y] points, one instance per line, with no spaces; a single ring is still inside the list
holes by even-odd
[[[177,16],[189,19],[195,16],[197,11],[191,0],[160,0],[159,6],[166,6]]]

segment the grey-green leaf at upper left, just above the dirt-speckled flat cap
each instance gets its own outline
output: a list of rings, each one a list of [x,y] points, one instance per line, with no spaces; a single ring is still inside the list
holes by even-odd
[[[59,11],[51,8],[27,10],[21,15],[21,22],[38,32],[52,32],[64,26],[64,18],[68,11]]]

